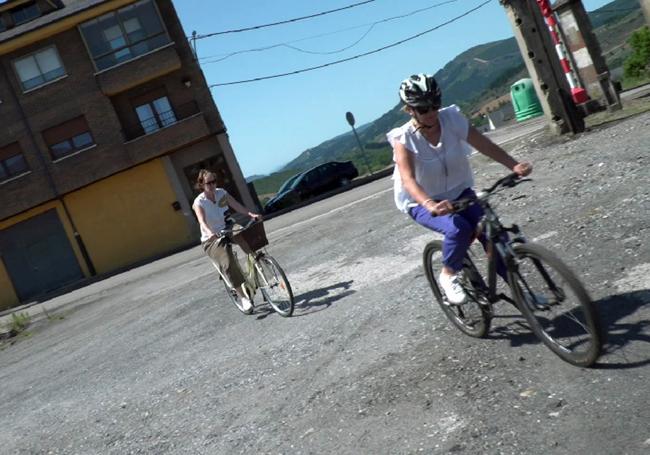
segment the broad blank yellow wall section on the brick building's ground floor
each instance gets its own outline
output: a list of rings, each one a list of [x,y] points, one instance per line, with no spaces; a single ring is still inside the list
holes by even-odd
[[[160,160],[65,196],[98,274],[188,245],[192,234]]]

